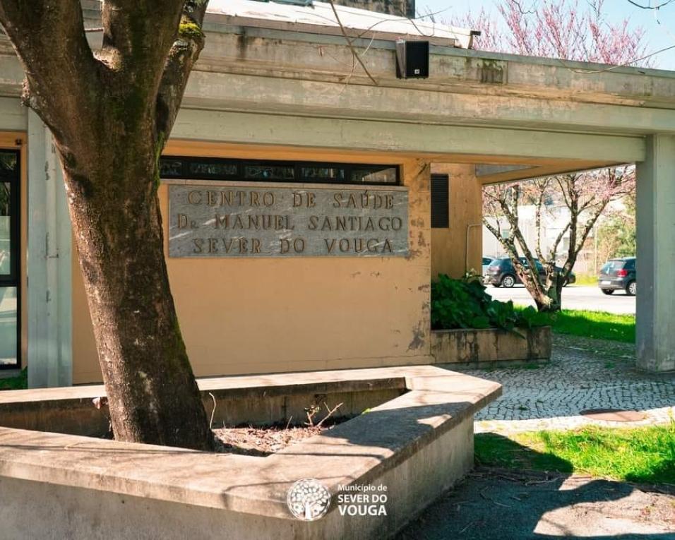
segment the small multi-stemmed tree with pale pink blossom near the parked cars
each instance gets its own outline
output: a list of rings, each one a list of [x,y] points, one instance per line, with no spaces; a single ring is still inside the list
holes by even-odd
[[[501,184],[484,189],[483,223],[500,241],[513,262],[515,272],[532,295],[539,311],[561,308],[563,286],[575,261],[602,212],[613,200],[635,192],[635,167],[615,167],[592,172],[565,174],[522,183]],[[542,217],[551,201],[567,209],[568,220],[548,249],[542,244]],[[534,247],[527,244],[518,221],[520,205],[534,206]],[[490,219],[494,217],[494,219]],[[508,228],[503,223],[508,223]],[[563,238],[568,246],[560,253]],[[520,253],[527,260],[523,264]],[[556,261],[564,262],[558,268]],[[544,266],[539,277],[537,263]]]

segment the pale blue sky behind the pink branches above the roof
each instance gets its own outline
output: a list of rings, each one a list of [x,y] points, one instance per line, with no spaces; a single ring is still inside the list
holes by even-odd
[[[522,0],[523,8],[529,8],[537,0]],[[635,0],[638,4],[659,5],[664,0]],[[416,0],[417,13],[427,13],[427,8],[431,13],[441,10],[443,13],[436,15],[436,20],[450,18],[453,11],[466,13],[471,9],[472,13],[479,13],[481,8],[485,11],[496,13],[496,0]],[[584,6],[585,1],[580,0],[579,6]],[[631,24],[636,27],[641,26],[645,30],[645,40],[647,42],[647,52],[655,52],[665,47],[675,46],[675,1],[662,7],[658,11],[658,18],[661,25],[655,19],[653,10],[640,9],[632,6],[628,0],[605,0],[604,11],[607,18],[613,22],[619,23],[628,18]],[[497,17],[498,18],[498,17]],[[474,30],[480,30],[476,28]],[[675,48],[662,52],[653,57],[653,66],[657,69],[669,69],[675,71]]]

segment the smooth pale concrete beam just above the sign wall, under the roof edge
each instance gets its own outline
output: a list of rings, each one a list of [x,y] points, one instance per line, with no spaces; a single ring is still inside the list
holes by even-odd
[[[641,137],[201,109],[181,109],[172,137],[241,144],[400,152],[446,162],[453,162],[457,155],[602,160],[617,164],[638,162],[645,157],[645,141]]]

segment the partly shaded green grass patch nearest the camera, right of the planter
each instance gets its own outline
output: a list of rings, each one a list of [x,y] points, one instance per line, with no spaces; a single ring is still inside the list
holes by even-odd
[[[675,484],[675,421],[669,426],[532,431],[475,436],[479,464]]]

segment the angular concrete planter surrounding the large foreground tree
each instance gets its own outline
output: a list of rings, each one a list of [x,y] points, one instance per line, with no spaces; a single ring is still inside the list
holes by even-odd
[[[183,539],[186,527],[214,539],[386,538],[471,467],[474,412],[501,387],[433,366],[354,371],[366,380],[393,380],[395,388],[405,380],[408,391],[269,457],[0,428],[4,538]],[[265,376],[258,384],[299,385],[303,378],[328,384],[340,373],[356,381],[354,371]],[[229,385],[237,388],[237,381]],[[64,389],[80,398],[85,390]],[[36,400],[56,390],[24,392]],[[390,515],[352,519],[333,505],[322,520],[298,522],[286,492],[312,477],[333,494],[340,485],[386,483]]]

